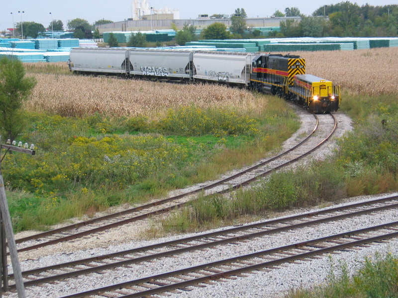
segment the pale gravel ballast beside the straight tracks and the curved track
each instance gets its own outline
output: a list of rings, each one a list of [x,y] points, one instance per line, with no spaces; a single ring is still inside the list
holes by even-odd
[[[300,113],[298,111],[298,114],[301,119],[305,118],[303,116],[304,113]],[[334,139],[341,137],[346,131],[350,131],[352,129],[351,120],[349,117],[340,112],[335,113],[335,115],[338,118],[339,126]],[[298,131],[294,136],[292,136],[292,138],[285,142],[285,147],[291,146],[289,143],[297,143],[300,135],[303,135],[302,130]],[[334,148],[335,145],[333,143],[323,146],[323,149],[316,153],[315,158],[322,158],[326,156]],[[199,186],[193,186],[191,189],[197,187]],[[189,189],[187,188],[186,190]],[[396,193],[396,195],[398,195],[398,193]],[[330,207],[351,204],[354,202],[368,201],[385,196],[387,196],[387,194],[344,199],[338,202],[339,204],[335,204]],[[305,213],[319,209],[320,208],[301,208],[281,213],[279,216],[286,217],[293,214]],[[173,271],[189,266],[199,265],[205,262],[243,255],[325,235],[337,234],[350,229],[359,229],[361,227],[367,227],[375,224],[389,223],[396,221],[398,218],[397,216],[398,210],[392,210],[382,213],[374,213],[371,215],[364,215],[351,220],[340,220],[329,224],[319,224],[315,227],[301,228],[295,232],[287,231],[278,235],[267,235],[247,241],[245,243],[241,243],[240,245],[223,245],[216,248],[207,249],[205,252],[196,251],[185,253],[173,258],[162,258],[153,263],[145,262],[132,265],[130,268],[118,268],[115,271],[107,270],[101,272],[101,274],[92,273],[84,277],[68,279],[54,284],[47,284],[44,287],[29,287],[26,289],[26,295],[27,298],[57,298],[84,290],[91,290],[101,286],[146,277],[152,274]],[[68,244],[59,243],[47,248],[20,253],[19,257],[21,260],[22,271],[92,256],[99,256],[197,234],[191,233],[184,235],[173,235],[159,239],[141,240],[139,238],[139,231],[144,230],[147,225],[148,221],[140,221],[132,225],[113,228],[111,229],[112,232],[100,234],[97,239],[85,238],[75,242],[70,242]],[[28,233],[29,232],[25,232],[25,234]],[[103,235],[106,235],[106,237],[104,238]],[[369,247],[364,247],[360,250],[339,252],[337,254],[331,254],[331,257],[329,257],[329,255],[325,255],[322,258],[311,259],[310,261],[305,261],[301,264],[284,264],[283,266],[278,266],[278,268],[269,272],[257,272],[256,274],[249,274],[245,278],[238,277],[235,280],[228,280],[227,282],[216,282],[214,285],[207,285],[205,288],[192,288],[192,291],[183,291],[181,294],[172,294],[170,297],[280,298],[284,297],[284,295],[290,289],[297,287],[311,287],[314,284],[324,283],[328,272],[330,272],[332,264],[334,264],[334,266],[337,264],[338,266],[340,263],[345,263],[348,270],[352,273],[358,269],[361,264],[363,264],[365,257],[374,256],[376,252],[384,254],[387,252],[397,253],[397,251],[398,240],[392,239],[387,243],[370,245]],[[9,272],[12,272],[12,267],[10,265],[8,266],[8,270]],[[5,293],[3,296],[16,298],[17,294]]]

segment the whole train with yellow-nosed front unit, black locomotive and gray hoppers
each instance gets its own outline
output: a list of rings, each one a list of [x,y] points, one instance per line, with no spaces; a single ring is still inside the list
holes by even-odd
[[[314,113],[337,111],[340,87],[305,74],[296,55],[161,50],[73,48],[69,69],[77,74],[156,80],[217,82],[281,96]]]

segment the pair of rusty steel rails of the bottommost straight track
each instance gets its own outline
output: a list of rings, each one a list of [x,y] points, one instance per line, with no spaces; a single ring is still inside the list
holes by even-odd
[[[346,243],[342,243],[342,244],[334,243],[336,245],[333,245],[331,247],[323,247],[323,246],[316,245],[319,243],[336,240],[339,238],[347,238],[347,237],[350,237],[350,236],[353,236],[356,234],[364,234],[364,233],[378,230],[378,229],[389,229],[389,228],[392,228],[397,225],[398,225],[398,222],[393,222],[393,223],[381,224],[381,225],[377,225],[377,226],[353,230],[353,231],[349,231],[349,232],[344,232],[344,233],[340,233],[340,234],[335,234],[335,235],[312,239],[312,240],[308,240],[308,241],[304,241],[304,242],[290,244],[290,245],[286,245],[286,246],[282,246],[282,247],[272,248],[272,249],[268,249],[268,250],[264,250],[264,251],[260,251],[260,252],[255,252],[255,253],[251,253],[251,254],[247,254],[247,255],[242,255],[242,256],[237,256],[237,257],[233,257],[233,258],[229,258],[229,259],[219,260],[219,261],[215,261],[215,262],[211,262],[211,263],[207,263],[207,264],[201,264],[201,265],[194,266],[194,267],[189,267],[189,268],[184,268],[184,269],[180,269],[180,270],[176,270],[176,271],[166,272],[166,273],[162,273],[162,274],[158,274],[158,275],[154,275],[154,276],[148,276],[148,277],[144,277],[144,278],[140,278],[140,279],[136,279],[136,280],[132,280],[132,281],[128,281],[128,282],[109,285],[109,286],[101,287],[99,289],[94,289],[94,290],[89,290],[89,291],[85,291],[85,292],[81,292],[81,293],[75,293],[72,295],[63,296],[61,298],[89,297],[92,295],[100,295],[100,293],[110,292],[110,291],[119,290],[119,289],[123,289],[123,288],[127,288],[127,287],[131,288],[132,286],[142,285],[144,283],[159,286],[161,283],[156,282],[157,280],[165,280],[165,279],[171,278],[171,277],[175,277],[178,279],[179,276],[185,275],[187,273],[198,272],[198,271],[206,271],[207,270],[208,272],[211,272],[211,274],[206,275],[204,277],[199,277],[199,278],[189,280],[189,281],[184,281],[184,282],[178,282],[178,283],[174,283],[171,285],[163,285],[163,286],[160,285],[159,287],[157,287],[155,289],[150,289],[150,290],[142,291],[139,293],[127,294],[127,295],[119,296],[118,298],[147,297],[148,295],[164,293],[169,290],[184,289],[187,286],[196,285],[196,284],[203,283],[203,282],[206,282],[209,280],[216,280],[216,279],[221,279],[221,278],[225,278],[225,277],[236,276],[241,273],[252,273],[253,271],[256,271],[256,270],[259,270],[259,269],[262,269],[265,267],[280,265],[282,263],[292,262],[292,261],[296,261],[299,259],[313,257],[316,255],[322,255],[324,253],[335,251],[335,250],[344,250],[346,248],[350,248],[353,246],[358,246],[358,245],[363,245],[363,244],[367,244],[367,243],[371,243],[371,242],[377,242],[377,241],[387,240],[389,238],[398,237],[398,231],[396,231],[396,232],[387,233],[387,234],[383,234],[383,235],[371,236],[366,239],[354,240],[354,241],[346,242]],[[211,268],[214,268],[214,267],[217,267],[218,271],[219,271],[220,270],[219,266],[231,266],[231,264],[233,264],[233,263],[239,263],[242,260],[248,260],[248,259],[253,259],[253,258],[261,258],[264,255],[270,255],[270,254],[274,254],[274,253],[283,254],[283,251],[297,249],[297,248],[301,249],[301,250],[305,250],[306,246],[308,246],[308,247],[310,247],[310,249],[314,249],[314,250],[309,251],[309,252],[304,252],[304,253],[298,253],[296,255],[292,255],[289,257],[283,257],[283,258],[279,258],[276,260],[262,262],[259,264],[248,265],[248,266],[244,266],[244,267],[240,266],[240,268],[226,270],[224,272],[213,273],[213,271],[211,271]],[[309,249],[307,249],[307,250],[309,250]],[[239,263],[239,264],[244,265],[244,263]],[[208,269],[210,269],[210,270],[208,270]],[[168,281],[170,282],[170,280],[168,280]]]

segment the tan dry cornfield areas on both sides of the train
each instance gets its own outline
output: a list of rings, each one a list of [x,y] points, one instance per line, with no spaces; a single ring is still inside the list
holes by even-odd
[[[355,51],[296,52],[306,60],[306,73],[363,94],[398,95],[398,48]],[[66,68],[66,63],[65,63]],[[37,85],[26,109],[64,116],[153,116],[169,108],[252,109],[258,99],[247,90],[213,84],[171,84],[67,74],[31,74]]]

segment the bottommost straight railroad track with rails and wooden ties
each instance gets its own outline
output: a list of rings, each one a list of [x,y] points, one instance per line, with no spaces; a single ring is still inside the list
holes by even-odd
[[[240,255],[193,267],[67,295],[62,298],[139,298],[205,287],[215,281],[269,271],[284,263],[305,261],[325,253],[347,251],[398,237],[398,222],[352,230],[282,247]]]

